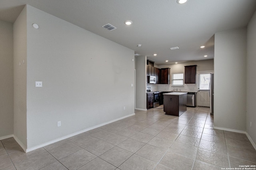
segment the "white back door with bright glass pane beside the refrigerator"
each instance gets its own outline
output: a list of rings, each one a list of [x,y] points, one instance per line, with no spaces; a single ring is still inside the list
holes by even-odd
[[[198,74],[198,106],[210,107],[210,73]]]

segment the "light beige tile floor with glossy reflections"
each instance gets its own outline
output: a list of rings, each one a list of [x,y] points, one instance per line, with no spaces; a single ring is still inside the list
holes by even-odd
[[[207,107],[180,117],[163,109],[135,115],[25,153],[0,142],[1,170],[221,170],[256,165],[245,134],[213,128]]]

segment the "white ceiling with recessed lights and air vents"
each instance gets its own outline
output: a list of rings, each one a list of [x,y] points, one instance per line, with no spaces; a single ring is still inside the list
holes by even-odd
[[[213,59],[214,34],[247,26],[256,10],[256,0],[0,0],[0,20],[14,23],[25,4],[146,55],[157,65]],[[126,26],[126,20],[133,24]],[[108,23],[117,29],[101,27]]]

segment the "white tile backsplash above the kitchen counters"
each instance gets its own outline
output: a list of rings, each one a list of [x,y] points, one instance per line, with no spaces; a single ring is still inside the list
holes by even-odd
[[[194,92],[197,91],[197,84],[184,84],[184,86],[172,86],[168,84],[147,84],[147,87],[151,87],[151,91],[178,91]]]

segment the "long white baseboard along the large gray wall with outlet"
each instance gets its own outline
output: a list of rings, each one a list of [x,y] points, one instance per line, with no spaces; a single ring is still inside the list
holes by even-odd
[[[53,144],[53,143],[58,142],[58,141],[60,141],[60,140],[63,140],[63,139],[66,139],[66,138],[70,138],[70,137],[72,137],[72,136],[76,136],[76,135],[78,135],[78,134],[80,134],[80,133],[87,132],[87,131],[92,130],[92,129],[94,129],[94,128],[102,127],[102,126],[107,125],[107,124],[109,124],[109,123],[113,123],[113,122],[115,122],[115,121],[119,121],[119,120],[121,120],[121,119],[124,119],[124,118],[126,118],[126,117],[130,117],[130,116],[133,116],[133,115],[135,115],[135,113],[132,113],[132,114],[127,115],[127,116],[124,116],[124,117],[120,117],[120,118],[118,118],[118,119],[114,119],[114,120],[112,120],[112,121],[108,121],[108,122],[106,122],[106,123],[102,123],[102,124],[100,124],[100,125],[96,125],[96,126],[94,126],[94,127],[90,127],[90,128],[84,129],[84,130],[80,130],[80,131],[78,131],[78,132],[75,132],[75,133],[72,133],[72,134],[63,136],[63,137],[58,138],[58,139],[55,139],[55,140],[51,140],[51,141],[49,141],[49,142],[46,142],[46,143],[44,143],[44,144],[40,144],[40,145],[38,145],[38,146],[34,146],[34,147],[32,147],[32,148],[27,148],[27,149],[25,150],[25,152],[30,152],[30,151],[32,151],[32,150],[36,150],[36,149],[38,149],[38,148],[42,148],[42,147],[44,147],[44,146],[47,146],[47,145],[49,145],[49,144]],[[16,140],[16,139],[15,139],[15,140]],[[16,140],[16,141],[17,141],[17,140]],[[18,141],[17,141],[17,142],[18,142]],[[19,143],[19,142],[18,142],[18,143]],[[20,143],[19,143],[19,144],[20,144]],[[22,146],[21,146],[21,147],[22,147]]]

